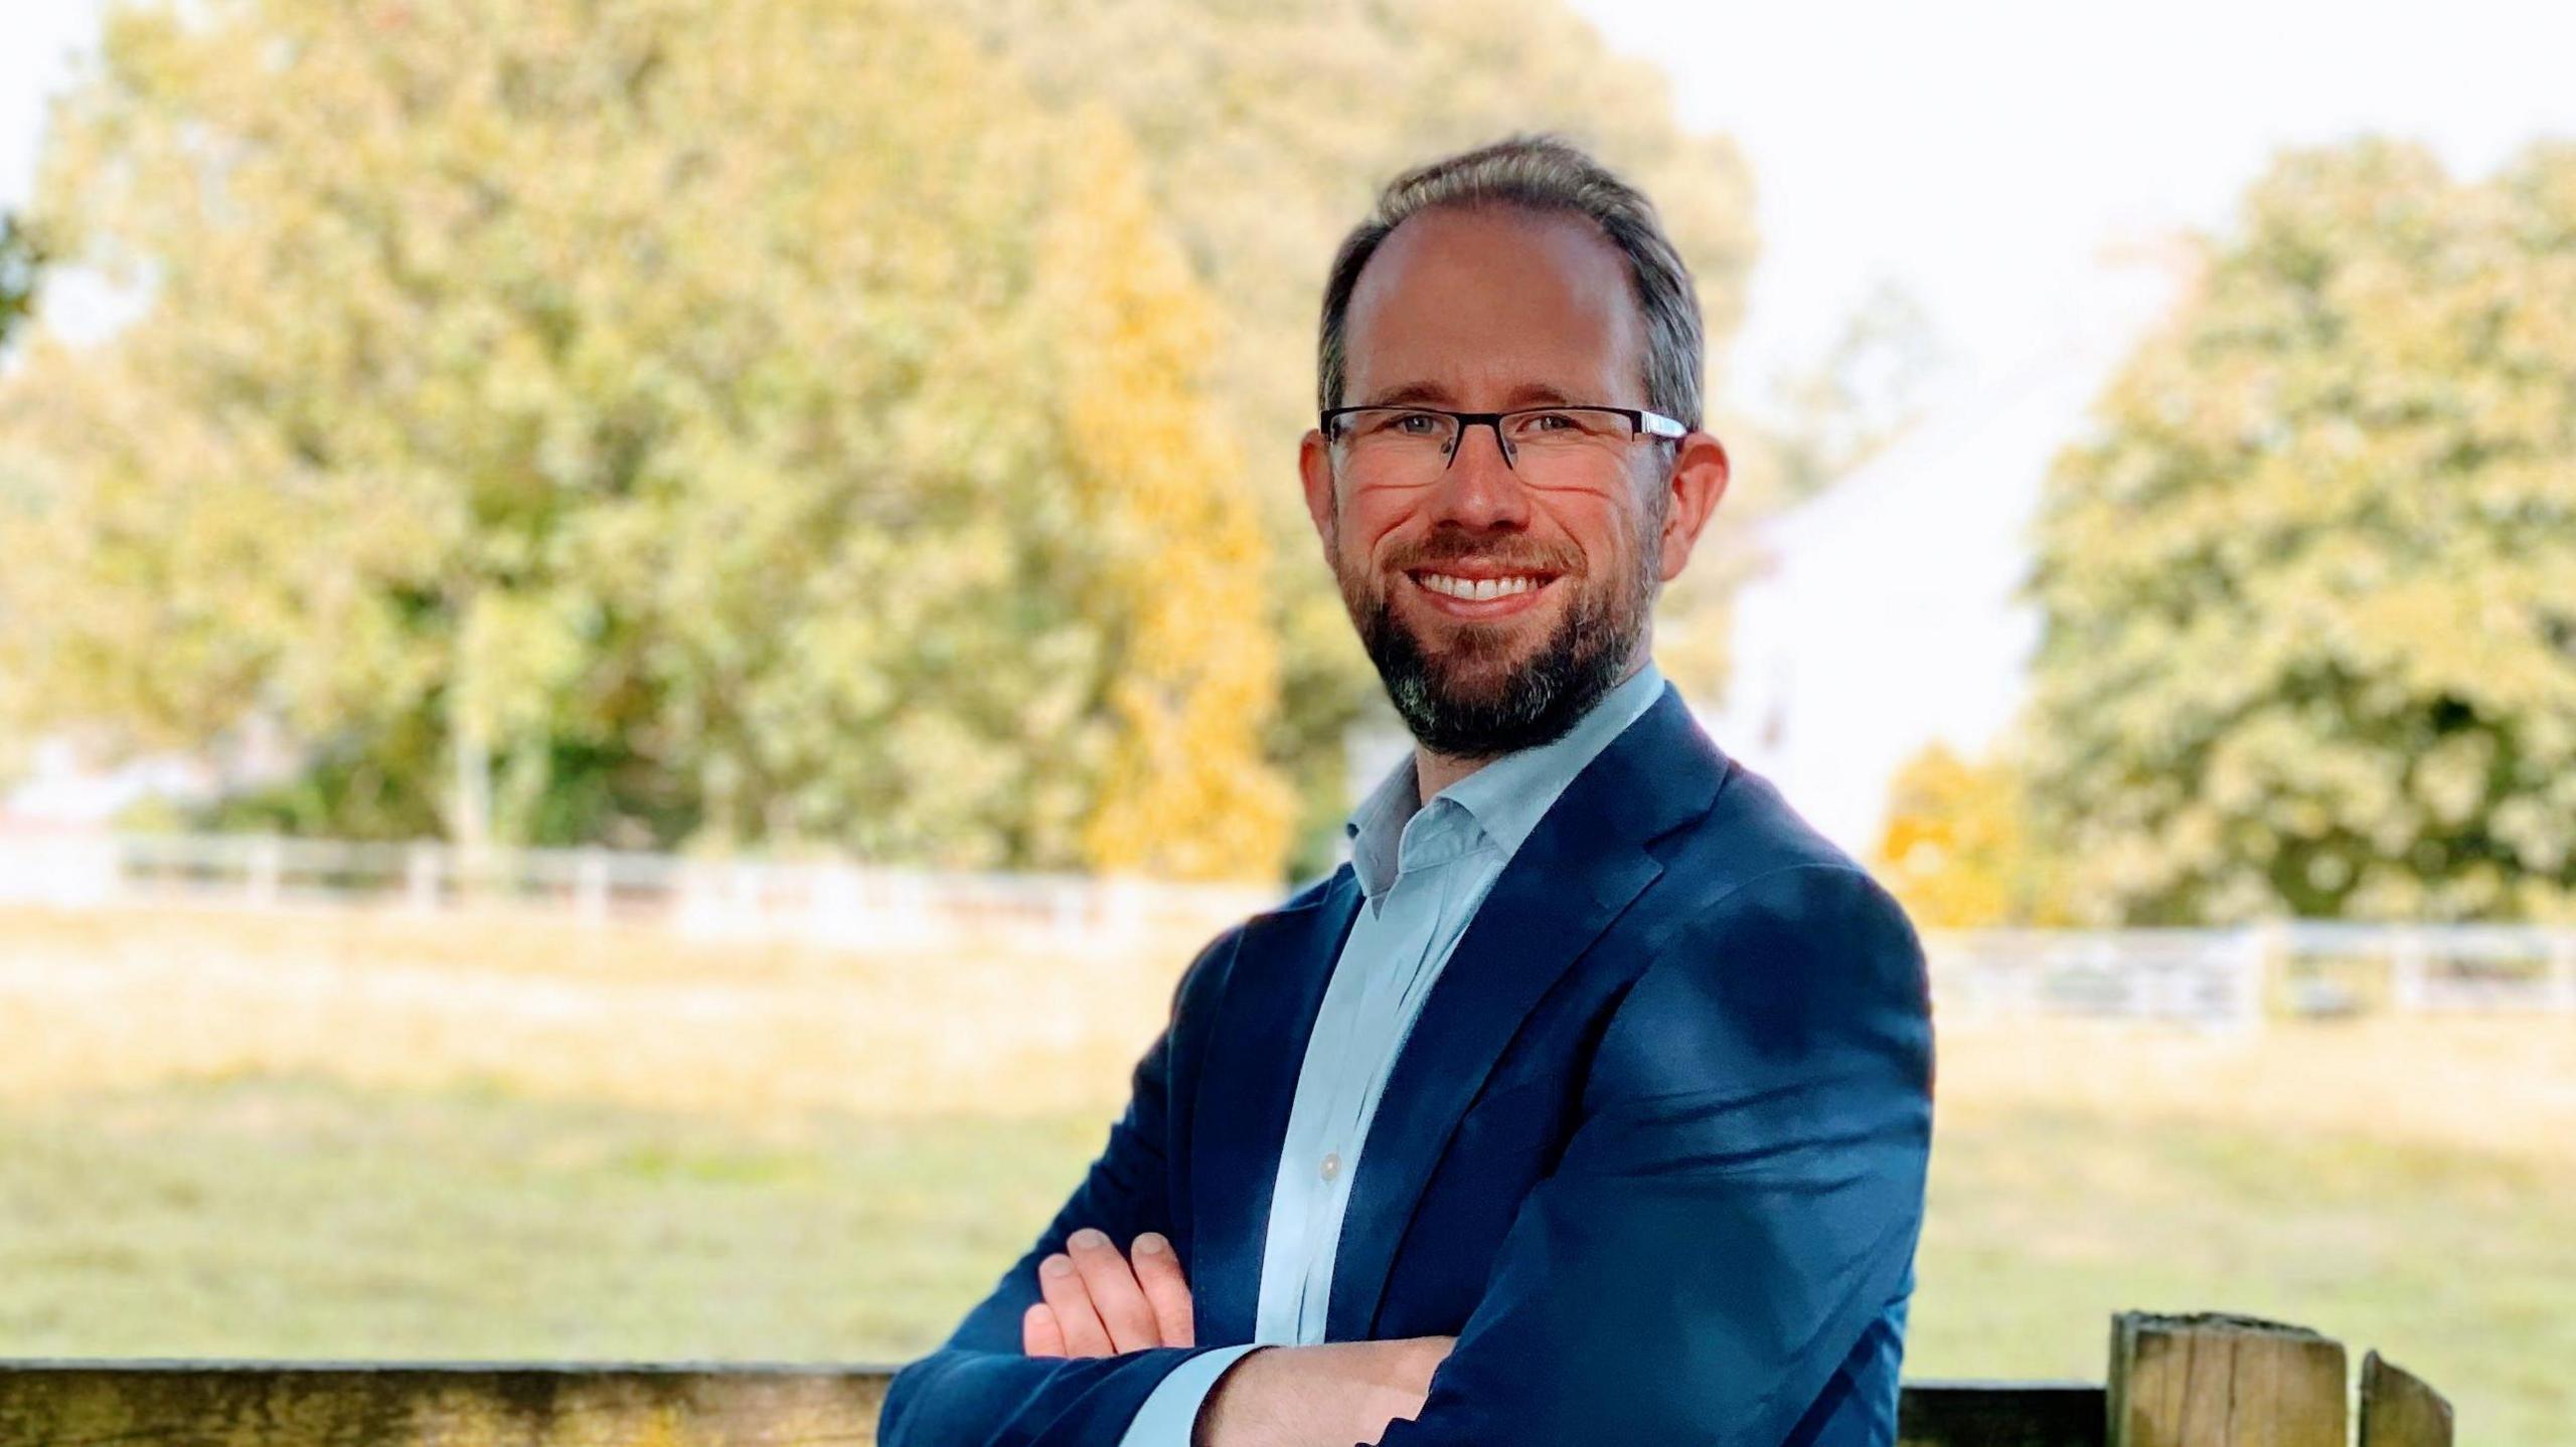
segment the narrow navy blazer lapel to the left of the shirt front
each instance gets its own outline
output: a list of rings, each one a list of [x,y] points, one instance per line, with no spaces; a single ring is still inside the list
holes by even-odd
[[[1360,881],[1334,870],[1311,901],[1244,924],[1200,1069],[1190,1123],[1193,1311],[1200,1341],[1249,1341],[1288,1107],[1324,981],[1360,914]]]

